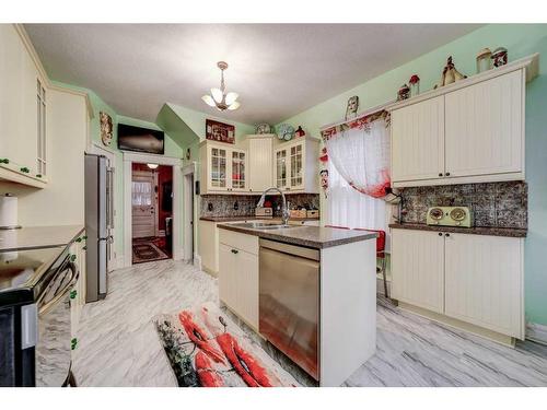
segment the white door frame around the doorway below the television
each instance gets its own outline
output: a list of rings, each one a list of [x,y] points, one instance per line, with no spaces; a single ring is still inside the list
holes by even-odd
[[[181,210],[182,210],[182,187],[183,175],[181,159],[165,155],[141,154],[124,152],[124,267],[132,265],[132,223],[131,223],[131,177],[132,163],[159,164],[173,166],[173,259],[179,260],[183,257],[181,246]]]

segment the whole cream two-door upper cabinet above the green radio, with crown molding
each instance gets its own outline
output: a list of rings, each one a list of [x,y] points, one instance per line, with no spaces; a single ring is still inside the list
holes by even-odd
[[[538,55],[387,107],[394,187],[524,180],[525,83]]]

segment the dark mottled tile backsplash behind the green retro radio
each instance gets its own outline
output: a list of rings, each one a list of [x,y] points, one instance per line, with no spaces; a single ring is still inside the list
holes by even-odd
[[[528,189],[524,181],[443,185],[401,189],[401,222],[426,223],[430,207],[469,207],[475,226],[526,229]]]

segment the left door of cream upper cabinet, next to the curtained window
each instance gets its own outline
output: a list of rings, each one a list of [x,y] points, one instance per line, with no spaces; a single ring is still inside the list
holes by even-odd
[[[444,173],[444,96],[392,114],[392,177],[422,180]]]

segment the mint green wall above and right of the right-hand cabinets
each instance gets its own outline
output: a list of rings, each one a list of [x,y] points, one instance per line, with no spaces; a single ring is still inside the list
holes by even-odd
[[[319,137],[323,125],[344,118],[346,103],[359,95],[361,110],[395,98],[411,74],[420,90],[431,90],[441,77],[447,56],[468,75],[476,72],[475,56],[484,47],[509,49],[510,61],[539,52],[539,75],[526,86],[526,180],[528,183],[528,236],[525,241],[525,308],[529,321],[547,325],[547,25],[492,24],[348,90],[282,122],[302,125]],[[318,86],[321,84],[317,84]],[[322,203],[322,210],[324,209]]]

